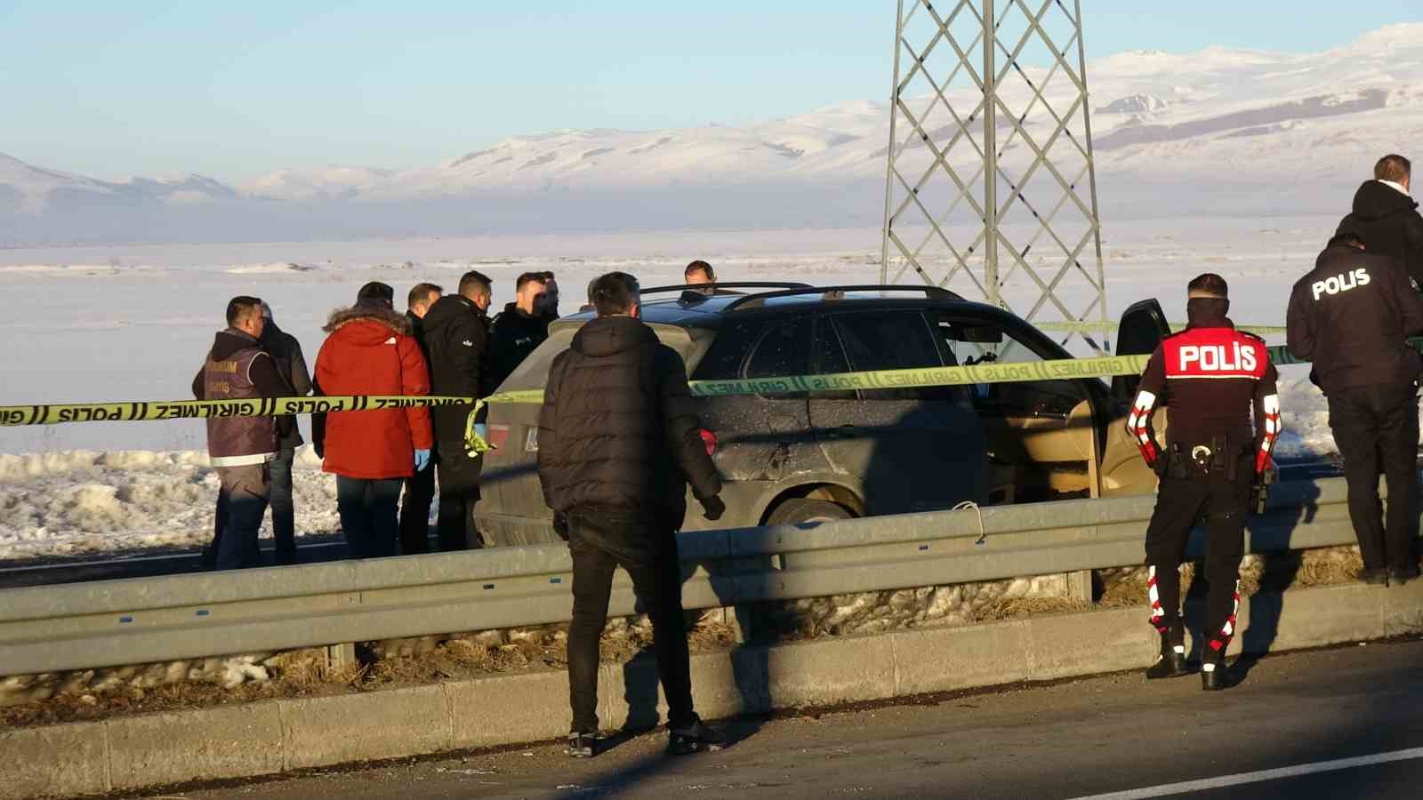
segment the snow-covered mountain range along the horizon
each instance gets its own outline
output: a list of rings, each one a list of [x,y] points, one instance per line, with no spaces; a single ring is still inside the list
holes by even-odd
[[[1379,155],[1423,141],[1423,23],[1323,53],[1137,51],[1087,73],[1106,219],[1339,211]],[[1063,88],[1059,77],[1049,98]],[[1030,127],[1050,122],[1037,117]],[[105,182],[0,154],[0,245],[878,225],[888,122],[885,104],[857,100],[744,128],[565,130],[428,167],[292,168],[239,186],[195,174]]]

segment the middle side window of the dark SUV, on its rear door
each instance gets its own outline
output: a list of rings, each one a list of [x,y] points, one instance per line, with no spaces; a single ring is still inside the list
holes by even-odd
[[[941,367],[945,364],[924,315],[874,310],[832,316],[855,372]],[[861,390],[862,400],[948,400],[968,403],[962,386]]]

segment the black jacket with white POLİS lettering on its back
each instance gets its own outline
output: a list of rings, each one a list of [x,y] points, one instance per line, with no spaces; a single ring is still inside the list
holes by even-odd
[[[1423,295],[1392,258],[1346,245],[1325,248],[1315,269],[1295,283],[1285,322],[1289,352],[1313,362],[1312,376],[1325,394],[1397,386],[1423,370],[1423,359],[1406,343],[1423,333]]]

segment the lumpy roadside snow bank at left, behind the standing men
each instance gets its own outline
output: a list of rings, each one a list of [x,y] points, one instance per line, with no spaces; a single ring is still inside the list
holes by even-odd
[[[297,535],[339,531],[336,480],[309,447],[292,483]],[[0,454],[0,559],[201,547],[216,500],[218,474],[202,451]],[[265,521],[262,537],[270,535]]]

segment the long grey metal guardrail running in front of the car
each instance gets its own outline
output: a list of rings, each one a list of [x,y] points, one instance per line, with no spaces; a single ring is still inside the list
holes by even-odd
[[[1343,478],[1276,484],[1251,551],[1352,544]],[[1140,564],[1154,495],[693,531],[686,608]],[[0,591],[0,676],[566,622],[564,545]],[[610,615],[635,614],[618,574]]]

